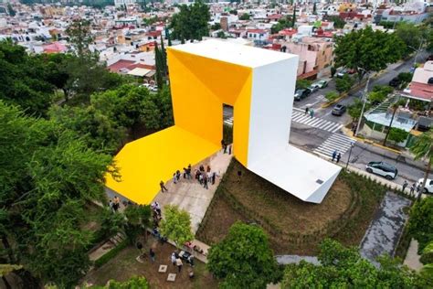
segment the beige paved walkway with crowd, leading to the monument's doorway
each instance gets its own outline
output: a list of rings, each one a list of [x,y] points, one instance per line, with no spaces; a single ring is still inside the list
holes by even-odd
[[[181,177],[177,184],[174,184],[173,180],[166,183],[165,187],[167,187],[168,192],[160,192],[153,198],[153,201],[157,201],[163,208],[163,218],[165,205],[177,205],[180,209],[185,209],[191,215],[192,230],[195,233],[198,225],[205,217],[210,201],[214,198],[216,187],[218,187],[221,177],[227,171],[231,157],[232,155],[223,154],[222,151],[218,151],[215,155],[211,155],[193,167],[193,173],[195,168],[198,168],[200,165],[205,166],[205,168],[206,166],[210,166],[211,171],[216,172],[216,183],[215,185],[209,184],[208,189],[200,185],[194,178],[186,179]]]

